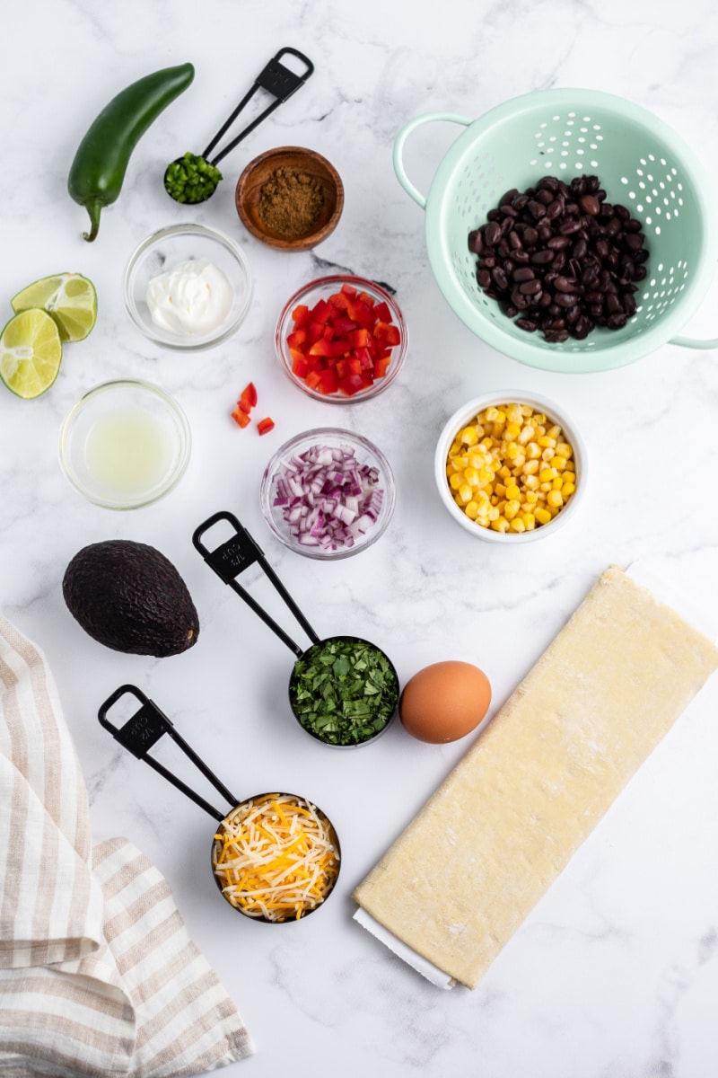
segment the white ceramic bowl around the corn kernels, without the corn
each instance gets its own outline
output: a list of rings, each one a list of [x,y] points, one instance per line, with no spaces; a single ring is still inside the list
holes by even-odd
[[[447,479],[447,460],[449,457],[449,450],[459,431],[468,426],[471,420],[476,418],[479,412],[482,412],[484,409],[492,405],[498,406],[502,404],[527,404],[534,410],[544,413],[548,419],[553,420],[554,424],[558,424],[561,427],[565,440],[573,446],[574,450],[572,459],[576,465],[575,493],[551,521],[547,524],[536,526],[533,530],[495,531],[493,528],[477,524],[476,521],[467,516],[464,510],[456,505]],[[476,536],[477,539],[513,547],[520,543],[533,542],[535,539],[544,539],[547,536],[552,536],[560,527],[563,527],[574,519],[586,489],[586,445],[576,425],[565,414],[563,409],[555,404],[552,400],[541,397],[539,393],[524,392],[519,389],[502,389],[496,392],[488,392],[482,393],[480,397],[475,397],[473,400],[467,401],[466,404],[462,404],[462,406],[454,412],[451,418],[447,420],[436,445],[436,453],[434,455],[434,476],[439,492],[439,497],[441,498],[441,501],[444,502],[450,516],[452,516],[457,524],[465,528],[466,531],[470,533],[470,535]]]

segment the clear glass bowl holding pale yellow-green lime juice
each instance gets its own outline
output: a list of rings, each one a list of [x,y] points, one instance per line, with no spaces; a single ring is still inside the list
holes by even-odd
[[[60,467],[79,494],[105,509],[158,501],[189,462],[187,418],[159,386],[104,382],[73,404],[59,436]]]

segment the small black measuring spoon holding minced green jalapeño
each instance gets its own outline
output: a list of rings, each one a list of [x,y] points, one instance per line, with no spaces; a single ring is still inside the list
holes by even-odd
[[[296,57],[298,60],[301,61],[301,64],[304,64],[304,70],[299,74],[297,74],[297,72],[293,71],[291,68],[288,68],[286,64],[282,64],[282,57],[287,55]],[[254,128],[257,127],[263,120],[265,120],[271,112],[273,112],[274,109],[278,109],[280,105],[282,105],[290,97],[292,97],[292,95],[296,93],[296,91],[299,89],[300,86],[304,86],[307,79],[309,79],[309,77],[312,74],[313,70],[314,70],[314,65],[312,64],[312,61],[309,59],[308,56],[305,56],[305,54],[300,53],[297,49],[292,49],[288,45],[285,45],[283,49],[280,49],[279,52],[274,56],[272,56],[272,58],[262,69],[259,74],[254,80],[252,86],[249,88],[244,97],[237,106],[237,108],[231,112],[229,116],[227,116],[220,130],[216,133],[211,142],[209,142],[209,144],[205,148],[205,150],[202,150],[201,154],[199,155],[188,154],[182,157],[175,157],[174,161],[167,166],[167,169],[165,170],[165,190],[167,191],[167,194],[170,196],[170,198],[174,198],[175,202],[188,203],[193,205],[207,202],[207,199],[214,194],[217,184],[222,179],[222,175],[216,167],[219,162],[221,162],[223,157],[226,157],[226,155],[231,150],[234,150],[235,147],[238,146],[243,138],[245,138],[251,132],[253,132]],[[247,127],[244,127],[243,130],[239,133],[239,135],[237,135],[234,139],[231,139],[230,142],[227,142],[224,149],[220,150],[217,153],[214,154],[214,156],[210,157],[210,154],[216,147],[220,139],[231,127],[235,120],[242,111],[242,109],[249,103],[250,99],[261,89],[265,91],[268,94],[271,94],[274,100],[271,101],[267,106],[267,108],[259,113],[258,116],[256,116],[250,124],[248,124]],[[187,157],[191,158],[189,162],[191,167],[199,168],[201,170],[203,184],[201,189],[198,188],[195,189],[195,191],[192,193],[192,197],[181,198],[177,193],[173,193],[173,189],[175,188],[175,183],[173,182],[174,181],[173,171],[175,170],[173,170],[172,166],[174,165],[180,167],[184,166],[186,170],[186,168],[188,167],[186,160]],[[178,183],[180,181],[178,180]],[[188,181],[186,181],[184,190],[189,190]]]

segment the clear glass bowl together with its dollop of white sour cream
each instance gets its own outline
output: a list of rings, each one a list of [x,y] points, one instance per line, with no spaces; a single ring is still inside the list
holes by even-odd
[[[201,224],[160,229],[131,254],[125,306],[147,340],[198,351],[236,333],[252,301],[252,274],[241,248]]]

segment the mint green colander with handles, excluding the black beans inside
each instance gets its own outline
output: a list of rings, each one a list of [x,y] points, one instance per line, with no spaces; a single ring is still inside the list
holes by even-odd
[[[448,121],[466,130],[441,160],[424,196],[404,167],[404,147],[422,124]],[[716,198],[685,142],[652,113],[610,94],[549,89],[516,97],[478,120],[433,112],[407,123],[394,142],[399,183],[425,210],[428,261],[445,299],[482,341],[547,371],[606,371],[666,343],[716,348],[718,338],[678,336],[713,279],[718,258]],[[609,203],[643,222],[648,276],[636,314],[622,330],[595,329],[583,341],[549,344],[526,333],[483,294],[476,280],[471,229],[505,191],[544,175],[596,175]]]

